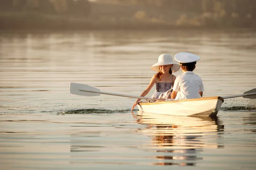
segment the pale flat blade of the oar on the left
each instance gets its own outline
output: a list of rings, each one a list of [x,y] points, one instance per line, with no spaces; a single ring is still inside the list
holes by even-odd
[[[100,93],[84,92],[84,91],[80,91],[79,89],[85,89],[85,90],[88,90],[88,91],[100,92],[100,89],[97,89],[97,88],[92,87],[92,86],[88,86],[86,84],[70,83],[70,94],[72,94],[72,95],[84,95],[84,96],[100,95]]]

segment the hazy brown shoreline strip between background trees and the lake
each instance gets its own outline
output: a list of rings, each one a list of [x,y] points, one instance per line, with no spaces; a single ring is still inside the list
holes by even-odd
[[[131,5],[91,3],[89,16],[39,11],[0,11],[0,30],[161,30],[256,28],[253,18],[221,17]],[[218,16],[216,18],[216,16]]]

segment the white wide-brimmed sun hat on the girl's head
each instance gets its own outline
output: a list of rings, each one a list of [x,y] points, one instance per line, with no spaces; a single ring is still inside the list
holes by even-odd
[[[163,65],[169,65],[169,64],[173,64],[172,66],[172,72],[177,72],[180,69],[180,64],[178,63],[174,63],[172,61],[172,56],[169,54],[161,54],[158,57],[158,62],[155,63],[153,66],[151,66],[150,68],[156,72],[159,72],[159,66],[163,66]]]

